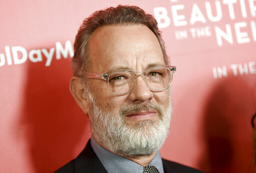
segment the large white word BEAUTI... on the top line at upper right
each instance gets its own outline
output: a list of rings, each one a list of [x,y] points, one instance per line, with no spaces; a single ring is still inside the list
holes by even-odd
[[[215,5],[212,5],[212,1],[205,1],[204,6],[205,8],[201,10],[199,6],[202,6],[201,4],[193,3],[191,7],[190,12],[190,19],[187,20],[188,16],[185,16],[185,11],[189,10],[186,9],[183,4],[175,4],[171,6],[171,14],[172,14],[172,21],[174,26],[185,26],[185,25],[193,25],[196,22],[205,23],[206,17],[211,22],[218,22],[223,18],[222,11],[228,11],[230,19],[235,19],[235,12],[238,12],[234,10],[236,8],[235,5],[240,6],[240,14],[243,18],[247,18],[247,10],[245,7],[245,2],[249,5],[249,12],[252,17],[256,16],[256,0],[239,0],[239,3],[237,0],[222,0],[222,3],[219,0],[215,0]],[[255,3],[254,3],[255,2]],[[222,6],[221,6],[222,4]],[[202,7],[201,7],[202,8]],[[214,9],[212,9],[214,8]],[[164,7],[155,7],[153,9],[154,16],[157,20],[158,27],[164,28],[168,27],[170,25],[170,18],[167,15],[167,9]],[[206,15],[202,13],[202,11],[206,12]]]

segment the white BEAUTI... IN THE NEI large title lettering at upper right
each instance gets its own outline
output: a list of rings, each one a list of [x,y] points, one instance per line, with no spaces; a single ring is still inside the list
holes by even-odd
[[[215,2],[215,3],[214,3]],[[189,3],[190,4],[190,3]],[[246,9],[246,6],[249,7]],[[248,43],[252,39],[256,41],[256,24],[254,20],[250,22],[241,21],[233,23],[232,26],[226,23],[227,19],[234,20],[235,18],[247,18],[256,17],[256,0],[215,0],[215,1],[204,1],[204,3],[192,3],[191,6],[184,6],[184,4],[171,5],[171,15],[173,25],[176,27],[181,26],[192,26],[194,24],[204,23],[218,23],[214,25],[216,41],[218,46],[223,45],[225,40],[229,44],[234,43],[233,35],[236,37],[238,44]],[[155,7],[153,9],[154,16],[157,20],[160,28],[168,27],[170,25],[170,18],[167,14],[167,9],[164,7]],[[187,13],[187,11],[189,11]],[[221,20],[225,23],[221,22]],[[223,25],[224,24],[224,25]],[[248,32],[245,29],[251,30],[252,39],[249,38]],[[201,30],[202,28],[190,28],[188,30],[182,29],[175,31],[176,39],[186,39],[187,32],[191,32],[192,38],[195,38],[193,30]],[[234,30],[234,33],[232,33]],[[201,33],[201,32],[200,32]],[[199,33],[199,36],[201,35]],[[206,26],[203,28],[203,35],[211,36],[210,27]],[[206,34],[204,34],[206,33]]]

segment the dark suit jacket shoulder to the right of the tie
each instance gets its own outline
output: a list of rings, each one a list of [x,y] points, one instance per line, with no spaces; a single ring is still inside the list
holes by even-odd
[[[164,173],[202,173],[193,168],[162,159]]]

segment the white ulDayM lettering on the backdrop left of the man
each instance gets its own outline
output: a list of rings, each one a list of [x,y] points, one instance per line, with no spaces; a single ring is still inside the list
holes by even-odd
[[[27,60],[27,58],[31,62],[41,62],[43,57],[42,55],[44,55],[46,58],[45,66],[49,66],[52,61],[54,52],[56,53],[56,59],[60,59],[61,55],[64,58],[67,58],[68,53],[70,57],[73,57],[74,55],[74,51],[70,41],[65,42],[65,47],[63,47],[61,43],[57,41],[55,43],[55,47],[50,48],[49,51],[47,51],[46,49],[33,49],[30,50],[28,54],[24,47],[14,46],[11,47],[12,58],[10,54],[10,47],[4,46],[4,50],[5,56],[4,53],[0,54],[0,66],[3,66],[5,64],[5,58],[7,61],[7,65],[12,65],[12,62],[14,64],[22,64]]]

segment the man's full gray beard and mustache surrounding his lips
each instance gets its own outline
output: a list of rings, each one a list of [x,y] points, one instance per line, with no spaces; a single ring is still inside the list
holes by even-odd
[[[169,132],[171,102],[167,110],[159,105],[131,104],[122,106],[118,113],[105,112],[95,104],[89,94],[89,121],[91,133],[107,150],[120,156],[136,158],[151,155],[163,145]],[[155,110],[158,120],[143,120],[132,125],[125,123],[130,112]]]

